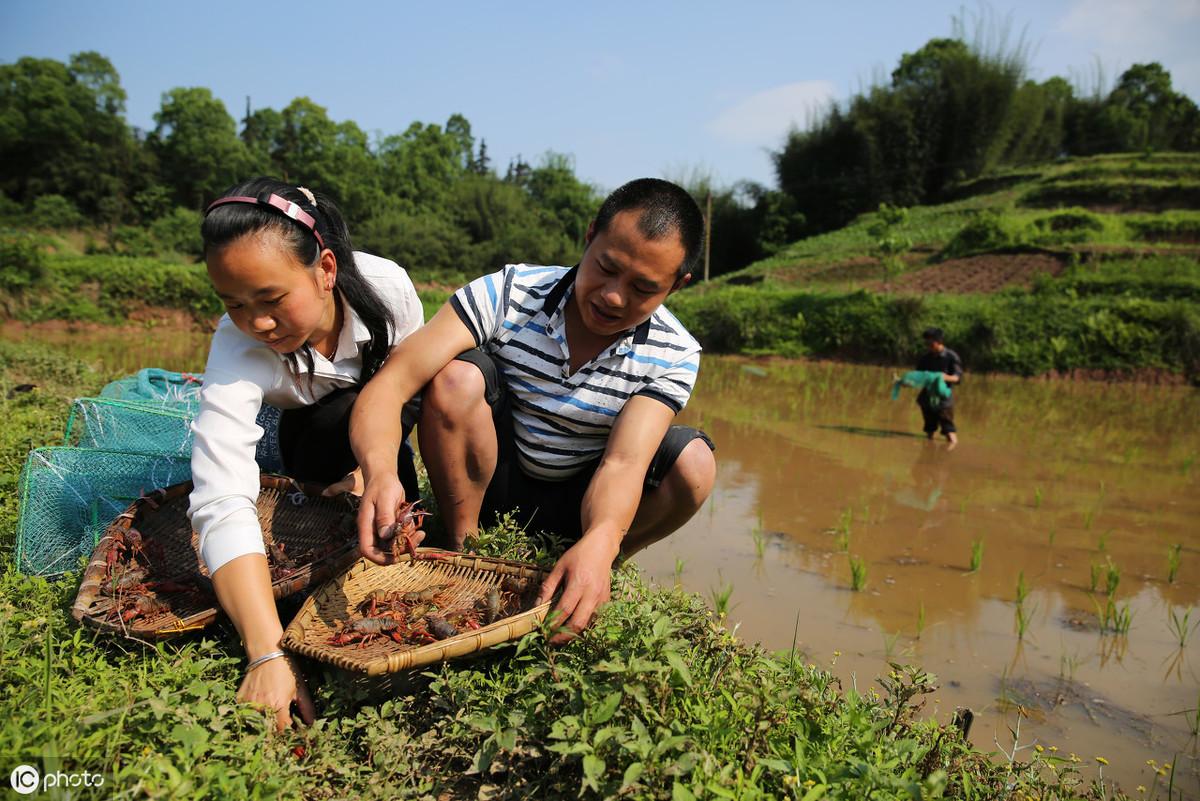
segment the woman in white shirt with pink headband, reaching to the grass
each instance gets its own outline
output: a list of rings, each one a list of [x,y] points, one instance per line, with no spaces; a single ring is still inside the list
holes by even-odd
[[[246,648],[238,698],[272,709],[283,727],[293,703],[305,721],[313,707],[280,650],[283,627],[256,512],[263,429],[254,418],[263,403],[284,410],[288,475],[320,483],[347,476],[355,469],[348,426],[358,390],[421,326],[421,303],[404,270],[352,251],[337,207],[302,187],[271,179],[232,187],[209,206],[202,234],[228,314],[212,336],[193,423],[188,514],[217,601]],[[410,450],[400,468],[415,498]]]

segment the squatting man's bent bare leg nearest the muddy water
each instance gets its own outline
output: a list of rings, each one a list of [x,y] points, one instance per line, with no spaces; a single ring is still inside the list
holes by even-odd
[[[662,483],[642,495],[634,524],[620,543],[623,556],[678,530],[700,510],[713,492],[716,460],[702,439],[694,439],[679,453]]]

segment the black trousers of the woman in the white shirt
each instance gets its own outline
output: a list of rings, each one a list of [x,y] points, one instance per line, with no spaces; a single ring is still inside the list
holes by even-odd
[[[299,481],[331,484],[358,466],[350,450],[350,411],[358,386],[334,390],[310,406],[286,409],[280,415],[280,459],[283,472]],[[418,496],[416,468],[408,432],[400,445],[396,472],[408,498]]]

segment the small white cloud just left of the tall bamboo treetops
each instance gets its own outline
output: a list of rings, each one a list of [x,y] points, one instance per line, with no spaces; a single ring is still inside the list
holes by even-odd
[[[800,80],[755,92],[721,112],[706,126],[720,139],[775,146],[787,130],[804,127],[829,104],[836,89],[828,80]]]

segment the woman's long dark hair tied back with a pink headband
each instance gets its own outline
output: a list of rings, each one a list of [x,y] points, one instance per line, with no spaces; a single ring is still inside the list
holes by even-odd
[[[388,357],[392,332],[397,324],[388,307],[384,306],[383,300],[359,272],[358,265],[354,264],[350,231],[346,228],[342,212],[337,210],[332,200],[319,192],[313,192],[313,198],[317,200],[314,205],[295,186],[270,177],[256,177],[238,183],[226,189],[221,197],[258,198],[263,194],[277,194],[284,200],[290,200],[317,221],[317,230],[325,240],[325,247],[332,251],[337,259],[335,297],[338,294],[344,297],[371,332],[371,341],[362,350],[362,377],[359,379],[360,384],[366,384],[367,379],[383,365],[383,360]],[[206,257],[210,248],[221,248],[247,234],[264,230],[278,234],[301,264],[313,264],[320,254],[317,237],[302,224],[277,209],[251,203],[230,203],[217,206],[204,217],[204,223],[200,225],[204,254]],[[296,354],[304,357],[311,377],[313,369],[312,348],[306,342],[296,353],[288,354],[293,373],[298,372]]]

